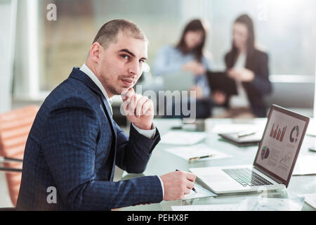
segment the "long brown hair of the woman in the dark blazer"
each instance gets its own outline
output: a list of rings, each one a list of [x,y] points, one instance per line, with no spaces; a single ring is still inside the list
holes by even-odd
[[[254,23],[252,22],[249,15],[243,14],[240,15],[236,20],[235,23],[242,23],[247,27],[248,30],[248,40],[247,40],[247,57],[246,57],[246,65],[249,65],[251,60],[251,56],[253,55],[254,51],[256,50],[255,46],[255,34],[254,34]],[[234,23],[234,24],[235,24]],[[238,49],[235,46],[234,40],[232,41],[232,49],[229,52],[232,54],[232,62],[231,67],[236,63],[237,56],[238,56]]]

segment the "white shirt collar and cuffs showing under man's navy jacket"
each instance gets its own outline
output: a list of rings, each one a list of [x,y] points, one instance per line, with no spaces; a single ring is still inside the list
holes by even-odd
[[[105,96],[105,99],[107,100],[107,103],[110,107],[111,115],[113,115],[112,99],[109,98],[109,96],[107,95],[107,91],[105,91],[105,88],[103,84],[100,82],[100,80],[98,79],[98,77],[96,77],[96,75],[92,72],[92,70],[88,68],[86,63],[84,63],[84,65],[81,66],[80,70],[84,72],[86,75],[88,75],[88,77],[90,77],[92,81],[96,84],[96,86],[98,86],[98,88],[102,91],[102,94],[103,96]],[[138,131],[139,134],[142,134],[143,136],[147,137],[147,139],[152,139],[154,137],[154,134],[156,134],[156,127],[154,126],[154,124],[152,124],[152,129],[150,130],[139,129],[133,123],[131,124],[136,129],[136,131]],[[159,176],[158,178],[160,180],[160,183],[162,184],[162,196],[164,196],[164,183],[162,182],[162,179]]]

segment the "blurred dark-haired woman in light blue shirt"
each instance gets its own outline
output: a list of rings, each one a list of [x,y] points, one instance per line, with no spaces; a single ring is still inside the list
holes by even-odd
[[[197,118],[211,115],[211,100],[209,84],[206,80],[206,70],[210,70],[209,61],[204,56],[206,28],[201,20],[192,20],[185,26],[180,41],[176,46],[163,46],[154,60],[152,71],[156,76],[169,75],[171,72],[191,72],[195,77],[195,86],[191,91],[197,91]]]

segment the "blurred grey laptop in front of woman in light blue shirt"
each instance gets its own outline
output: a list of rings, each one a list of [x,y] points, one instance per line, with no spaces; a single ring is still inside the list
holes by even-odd
[[[195,85],[191,72],[176,71],[164,75],[165,91],[188,91]]]

